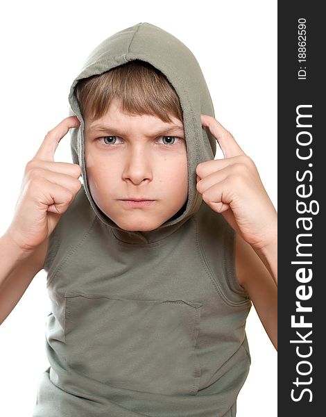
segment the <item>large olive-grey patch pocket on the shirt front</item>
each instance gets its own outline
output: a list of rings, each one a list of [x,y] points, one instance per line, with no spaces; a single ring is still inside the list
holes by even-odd
[[[104,384],[195,395],[203,304],[184,300],[65,297],[67,363]]]

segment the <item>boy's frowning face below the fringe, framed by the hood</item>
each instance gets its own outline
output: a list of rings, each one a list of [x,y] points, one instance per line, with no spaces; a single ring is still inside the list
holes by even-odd
[[[182,122],[121,113],[112,100],[85,120],[85,163],[97,206],[127,231],[150,231],[187,202],[187,147]]]

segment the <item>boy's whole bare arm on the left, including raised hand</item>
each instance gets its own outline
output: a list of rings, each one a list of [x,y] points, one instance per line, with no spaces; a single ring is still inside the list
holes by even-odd
[[[26,164],[12,222],[0,238],[0,324],[43,268],[49,236],[80,190],[80,166],[54,161],[60,140],[79,124],[76,116],[62,120]]]

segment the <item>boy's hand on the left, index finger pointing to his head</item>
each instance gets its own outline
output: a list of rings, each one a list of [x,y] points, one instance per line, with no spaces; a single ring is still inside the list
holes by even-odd
[[[21,250],[35,249],[51,234],[80,190],[80,166],[54,162],[53,158],[60,140],[79,124],[76,116],[62,120],[46,134],[40,149],[26,165],[15,215],[6,231]]]

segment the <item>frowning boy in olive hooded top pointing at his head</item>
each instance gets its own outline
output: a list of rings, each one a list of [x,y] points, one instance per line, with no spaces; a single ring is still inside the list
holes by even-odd
[[[151,24],[98,45],[69,103],[0,242],[1,322],[48,273],[33,416],[234,416],[251,302],[276,347],[277,215],[255,164]],[[69,129],[74,164],[55,163]]]

